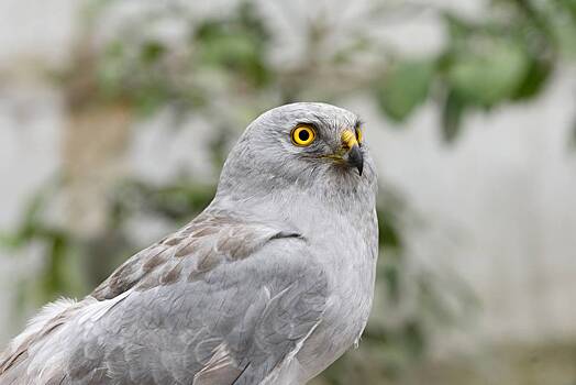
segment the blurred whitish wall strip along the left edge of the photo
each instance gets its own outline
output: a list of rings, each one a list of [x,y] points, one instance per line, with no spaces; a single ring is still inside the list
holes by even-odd
[[[63,100],[37,81],[34,63],[54,69],[66,63],[78,3],[0,2],[0,231],[14,226],[30,196],[57,169]],[[0,345],[13,333],[15,277],[37,266],[33,250],[0,250]]]

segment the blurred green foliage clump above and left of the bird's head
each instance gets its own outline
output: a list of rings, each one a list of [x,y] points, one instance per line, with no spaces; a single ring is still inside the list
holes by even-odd
[[[143,116],[167,103],[189,111],[204,108],[214,92],[203,78],[223,79],[243,91],[273,79],[266,59],[269,34],[251,2],[240,3],[231,16],[189,22],[184,45],[134,33],[162,16],[133,21],[107,42],[95,59],[97,99],[128,102]]]

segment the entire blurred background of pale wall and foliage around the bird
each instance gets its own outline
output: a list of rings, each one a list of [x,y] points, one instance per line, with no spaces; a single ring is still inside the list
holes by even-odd
[[[575,385],[575,0],[3,0],[0,344],[314,100],[366,122],[381,250],[361,348],[314,385]]]

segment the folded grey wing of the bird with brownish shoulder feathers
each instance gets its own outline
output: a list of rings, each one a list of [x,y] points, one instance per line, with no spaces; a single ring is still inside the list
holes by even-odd
[[[12,374],[4,365],[0,384],[4,375],[55,384],[259,384],[321,322],[326,292],[297,232],[201,215],[130,258],[49,333],[15,349],[25,359],[9,356],[16,365]]]

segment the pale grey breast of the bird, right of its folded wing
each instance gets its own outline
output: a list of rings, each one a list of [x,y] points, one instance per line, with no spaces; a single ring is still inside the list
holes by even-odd
[[[366,220],[375,223],[372,218]],[[310,242],[317,251],[313,254],[325,258],[322,264],[328,271],[330,297],[322,322],[297,354],[307,380],[328,367],[359,339],[374,297],[377,230],[367,227],[357,231],[337,220],[324,230]],[[342,237],[343,233],[346,237]]]

